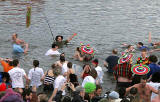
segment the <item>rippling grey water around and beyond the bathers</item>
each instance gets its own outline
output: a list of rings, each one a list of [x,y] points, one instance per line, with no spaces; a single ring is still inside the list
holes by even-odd
[[[80,42],[95,48],[96,58],[100,60],[100,66],[103,66],[103,60],[111,54],[113,48],[122,51],[122,43],[135,44],[142,41],[147,44],[149,31],[152,32],[153,41],[160,39],[158,0],[33,0],[29,28],[25,27],[27,2],[0,1],[0,56],[18,57],[21,67],[27,73],[32,68],[34,59],[40,60],[40,67],[44,70],[49,69],[51,64],[59,59],[44,56],[53,42],[45,17],[54,37],[61,34],[67,39],[73,33],[78,34],[62,49],[67,60],[77,65],[83,63],[73,60],[72,56]],[[29,43],[27,55],[12,54],[10,39],[14,32]],[[106,71],[105,68],[103,70]],[[113,76],[107,72],[103,87],[105,90],[115,87]]]

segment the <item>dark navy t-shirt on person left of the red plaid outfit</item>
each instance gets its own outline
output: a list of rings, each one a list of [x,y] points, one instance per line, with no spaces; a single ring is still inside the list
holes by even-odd
[[[108,63],[108,72],[113,72],[113,67],[118,64],[118,59],[119,57],[114,55],[106,58],[105,61]]]

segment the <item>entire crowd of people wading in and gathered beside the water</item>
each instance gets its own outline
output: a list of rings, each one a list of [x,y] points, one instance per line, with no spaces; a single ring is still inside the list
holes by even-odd
[[[123,44],[127,49],[121,56],[117,55],[117,49],[113,49],[104,66],[114,76],[116,88],[102,95],[104,71],[99,59],[94,58],[94,49],[83,43],[76,48],[74,59],[88,62],[82,72],[78,72],[80,76],[73,63],[66,61],[65,54],[58,51],[76,35],[67,40],[60,35],[56,37],[45,55],[59,56],[59,61],[46,72],[39,67],[38,60],[33,60],[33,68],[26,74],[19,59],[0,58],[4,69],[0,72],[0,102],[160,102],[160,64],[158,57],[151,54],[159,48],[151,49],[142,42],[138,42],[138,49]],[[12,35],[12,41],[13,52],[27,53],[28,44],[19,39],[18,34]],[[151,43],[151,33],[149,42],[150,46],[160,46],[160,42]],[[139,50],[141,56],[133,61],[135,50]]]

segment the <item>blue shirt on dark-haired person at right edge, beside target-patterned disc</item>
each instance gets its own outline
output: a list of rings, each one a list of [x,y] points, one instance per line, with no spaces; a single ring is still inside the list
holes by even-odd
[[[148,77],[150,77],[151,75],[153,75],[154,73],[156,72],[160,72],[160,66],[158,66],[157,64],[155,63],[151,63],[148,65],[149,68],[150,68],[150,71],[149,73],[147,74]]]

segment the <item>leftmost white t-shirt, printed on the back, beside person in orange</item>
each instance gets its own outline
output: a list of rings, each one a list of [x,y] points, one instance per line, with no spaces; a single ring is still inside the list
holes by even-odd
[[[25,71],[19,67],[14,67],[8,71],[11,80],[12,88],[24,88],[23,77],[26,75]]]

